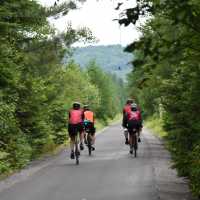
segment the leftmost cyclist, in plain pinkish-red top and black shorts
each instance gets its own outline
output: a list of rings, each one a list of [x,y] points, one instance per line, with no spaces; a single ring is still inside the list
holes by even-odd
[[[70,137],[70,146],[71,146],[71,159],[75,158],[74,155],[74,146],[75,146],[75,137],[77,134],[80,134],[80,149],[83,150],[83,111],[79,102],[73,103],[73,108],[69,111],[69,124],[68,132]]]

